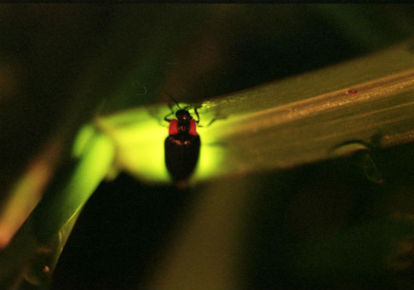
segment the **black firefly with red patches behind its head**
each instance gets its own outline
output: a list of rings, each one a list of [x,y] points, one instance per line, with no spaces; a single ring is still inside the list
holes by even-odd
[[[175,101],[175,99],[172,100]],[[175,103],[179,107],[177,101]],[[185,181],[194,172],[199,158],[201,141],[197,134],[197,124],[199,123],[197,107],[194,112],[197,121],[181,107],[175,112],[176,118],[167,118],[173,112],[164,118],[170,123],[168,137],[164,142],[166,167],[172,180],[177,183]]]

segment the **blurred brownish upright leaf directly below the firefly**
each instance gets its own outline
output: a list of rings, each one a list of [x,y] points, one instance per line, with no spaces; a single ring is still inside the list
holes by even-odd
[[[195,187],[200,198],[179,223],[164,260],[157,261],[143,288],[239,289],[239,245],[257,189],[251,181],[224,178]]]

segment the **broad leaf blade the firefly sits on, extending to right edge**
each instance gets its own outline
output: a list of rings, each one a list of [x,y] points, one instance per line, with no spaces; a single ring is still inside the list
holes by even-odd
[[[370,143],[382,136],[382,148],[413,140],[413,68],[414,54],[402,43],[205,101],[201,125],[226,119],[198,129],[203,145],[193,180],[332,158],[337,145],[351,140]],[[148,181],[168,181],[163,151],[168,132],[162,126],[168,112],[160,105],[97,118],[95,125],[117,145],[117,167]]]

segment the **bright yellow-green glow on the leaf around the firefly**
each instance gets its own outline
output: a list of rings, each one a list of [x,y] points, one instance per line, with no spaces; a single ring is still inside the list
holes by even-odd
[[[155,114],[159,116],[157,120],[149,110],[138,108],[100,118],[97,127],[110,135],[117,146],[115,167],[124,169],[147,182],[168,183],[170,177],[164,159],[164,141],[168,136],[168,123],[164,122],[163,118],[170,111],[167,106],[158,107]],[[201,149],[193,180],[216,176],[217,167],[224,166],[222,160],[226,147],[211,145],[217,143],[213,134],[217,132],[217,127],[216,129],[214,127],[212,125],[197,129],[201,137]]]

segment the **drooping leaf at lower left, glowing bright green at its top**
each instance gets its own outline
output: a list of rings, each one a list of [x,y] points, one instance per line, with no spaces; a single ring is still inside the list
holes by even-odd
[[[17,287],[25,278],[45,287],[86,200],[107,174],[114,156],[107,136],[95,134],[79,160],[61,170],[46,196],[10,245],[1,251],[0,287]],[[14,285],[14,286],[12,286]]]

